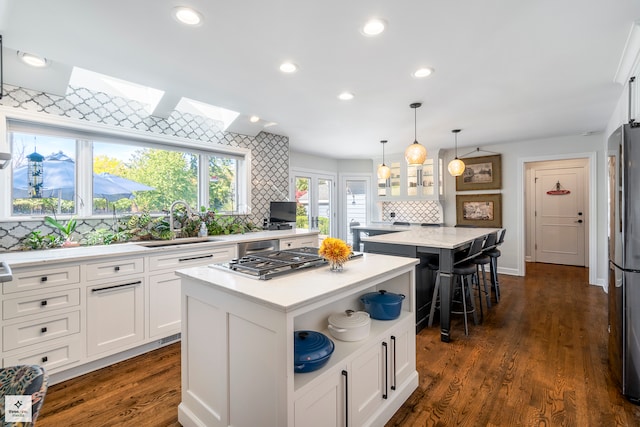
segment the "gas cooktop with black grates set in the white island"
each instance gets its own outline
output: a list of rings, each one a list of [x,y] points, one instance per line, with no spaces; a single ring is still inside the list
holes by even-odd
[[[352,255],[352,257],[359,255]],[[255,252],[242,258],[234,258],[229,262],[210,264],[209,267],[267,280],[305,268],[319,267],[326,263],[324,258],[318,255],[318,248],[304,247],[286,251]]]

